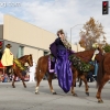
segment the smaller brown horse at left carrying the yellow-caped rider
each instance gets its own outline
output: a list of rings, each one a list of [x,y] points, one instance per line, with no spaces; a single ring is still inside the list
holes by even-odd
[[[24,55],[24,56],[18,58],[18,61],[21,63],[22,66],[24,66],[25,63],[28,63],[30,67],[33,66],[32,54]],[[7,69],[7,67],[6,67],[6,69]],[[12,72],[11,74],[14,75],[14,78],[12,80],[12,87],[15,88],[14,81],[15,81],[15,78],[19,77],[22,80],[24,88],[26,88],[26,85],[24,82],[24,77],[22,76],[22,69],[20,69],[20,67],[15,63],[13,63],[13,66],[11,67],[11,72]]]

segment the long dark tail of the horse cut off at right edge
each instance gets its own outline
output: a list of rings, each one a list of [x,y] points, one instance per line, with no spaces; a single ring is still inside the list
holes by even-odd
[[[101,57],[102,59],[99,62],[99,65],[98,65],[98,74],[97,74],[97,87],[99,87],[99,85],[101,85],[101,80],[102,80],[102,77],[103,77],[103,59],[105,57],[102,56]]]

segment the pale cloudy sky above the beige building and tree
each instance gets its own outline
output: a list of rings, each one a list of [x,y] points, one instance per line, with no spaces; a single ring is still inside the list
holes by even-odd
[[[11,14],[55,34],[64,29],[68,41],[73,28],[73,43],[79,41],[82,24],[92,16],[102,24],[110,43],[110,14],[102,15],[102,0],[0,0],[0,24],[3,24],[3,14]]]

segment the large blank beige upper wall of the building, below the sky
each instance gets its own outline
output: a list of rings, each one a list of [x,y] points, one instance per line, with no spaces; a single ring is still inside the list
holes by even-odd
[[[4,15],[3,38],[48,50],[56,35],[11,15]]]

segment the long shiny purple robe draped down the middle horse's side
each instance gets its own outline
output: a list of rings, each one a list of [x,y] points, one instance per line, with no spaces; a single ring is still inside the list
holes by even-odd
[[[64,47],[65,48],[65,47]],[[68,56],[73,53],[72,51],[61,50],[56,43],[50,45],[51,53],[56,57],[55,74],[58,78],[59,87],[68,92],[73,82],[73,73],[70,68],[70,61]]]

